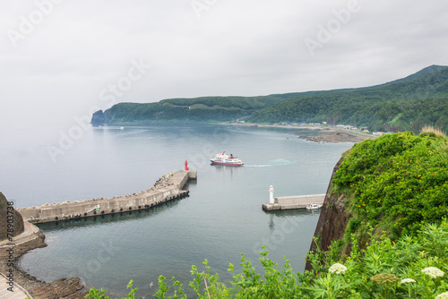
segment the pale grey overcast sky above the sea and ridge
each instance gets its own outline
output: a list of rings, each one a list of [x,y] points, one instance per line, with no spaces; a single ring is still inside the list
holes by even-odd
[[[361,87],[448,65],[442,0],[0,3],[2,130],[64,130],[122,101]]]

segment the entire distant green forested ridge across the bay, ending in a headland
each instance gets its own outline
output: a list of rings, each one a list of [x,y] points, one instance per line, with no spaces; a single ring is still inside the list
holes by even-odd
[[[321,123],[366,126],[374,131],[418,131],[424,124],[448,128],[448,67],[428,66],[372,87],[316,90],[259,97],[168,98],[119,103],[97,111],[91,123],[189,122]]]

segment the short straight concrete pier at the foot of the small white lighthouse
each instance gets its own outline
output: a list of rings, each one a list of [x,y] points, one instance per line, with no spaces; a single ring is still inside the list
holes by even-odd
[[[306,209],[310,203],[323,204],[325,194],[297,195],[276,197],[274,203],[263,203],[262,208],[266,211],[280,209]]]

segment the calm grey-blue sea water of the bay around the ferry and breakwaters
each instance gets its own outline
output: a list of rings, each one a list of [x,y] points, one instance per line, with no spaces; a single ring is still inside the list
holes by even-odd
[[[125,295],[134,279],[139,297],[147,298],[159,275],[186,285],[191,266],[204,259],[224,281],[241,252],[259,269],[262,244],[273,261],[282,265],[285,256],[302,271],[318,212],[266,213],[261,205],[271,184],[275,196],[325,192],[332,168],[351,146],[298,140],[287,129],[167,125],[94,128],[56,163],[4,151],[2,192],[16,207],[140,192],[183,169],[185,159],[198,172],[197,182],[186,186],[189,198],[131,215],[40,226],[48,246],[24,255],[19,267],[45,281],[79,276],[113,296]],[[245,166],[211,166],[209,158],[223,150]]]

